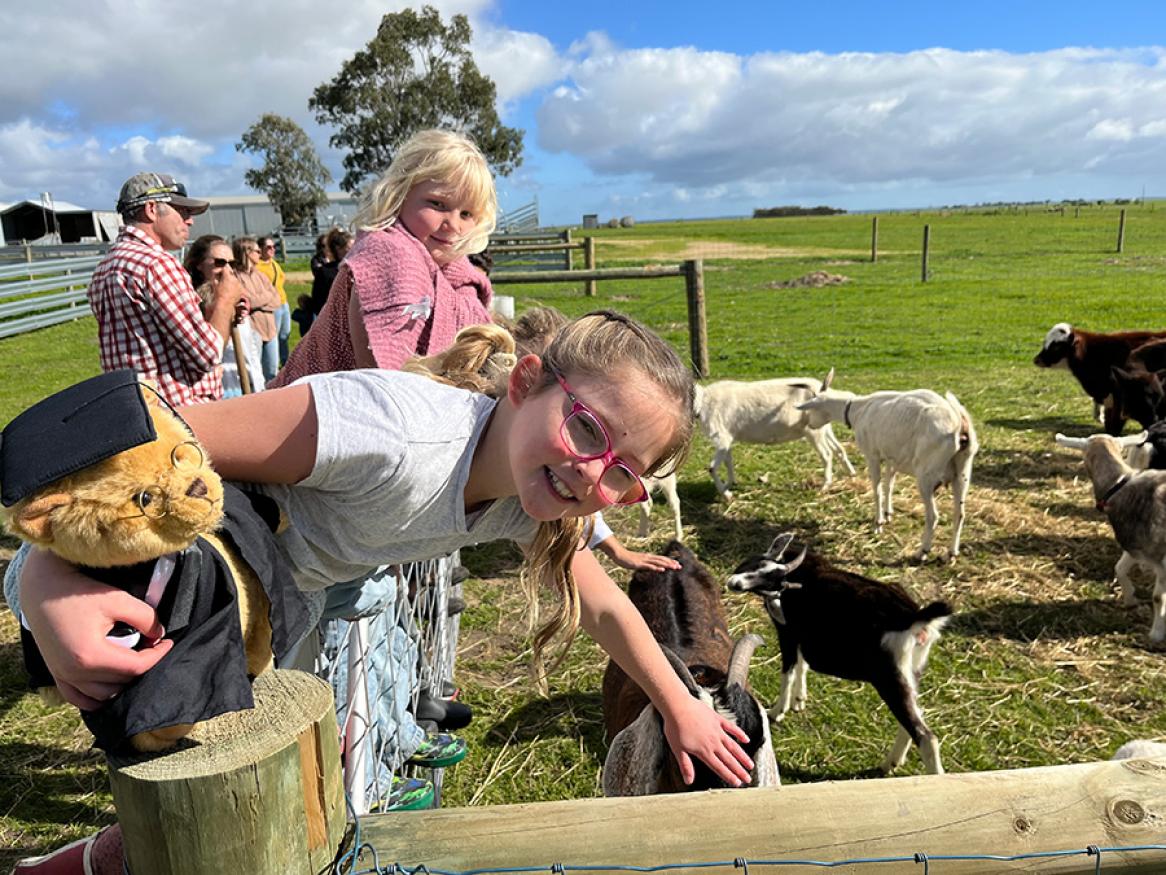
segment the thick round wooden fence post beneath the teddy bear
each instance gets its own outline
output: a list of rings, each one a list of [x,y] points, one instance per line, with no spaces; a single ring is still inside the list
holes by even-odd
[[[255,679],[255,707],[198,724],[176,749],[110,757],[135,875],[316,875],[344,835],[332,691],[296,671]]]

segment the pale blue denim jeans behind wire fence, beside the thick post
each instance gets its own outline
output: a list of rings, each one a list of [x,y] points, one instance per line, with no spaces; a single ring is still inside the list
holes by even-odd
[[[368,620],[365,676],[377,769],[367,779],[370,791],[380,796],[387,793],[388,776],[400,770],[426,737],[409,712],[417,685],[419,652],[403,590],[402,582],[387,568],[364,580],[335,584],[328,589],[321,622],[321,662],[336,694],[337,720],[344,727],[349,710],[349,621]]]

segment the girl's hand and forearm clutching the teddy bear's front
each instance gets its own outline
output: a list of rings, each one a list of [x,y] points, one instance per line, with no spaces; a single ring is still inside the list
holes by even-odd
[[[86,578],[68,562],[34,550],[21,575],[20,607],[65,701],[92,710],[164,657],[174,642],[127,650],[106,639],[114,623],[164,635],[154,609],[125,590]]]

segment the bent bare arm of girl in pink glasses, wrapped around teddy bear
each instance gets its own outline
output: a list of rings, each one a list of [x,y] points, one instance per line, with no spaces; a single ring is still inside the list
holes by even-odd
[[[192,405],[182,416],[226,480],[297,483],[316,461],[316,408],[308,386]],[[146,602],[98,583],[44,551],[34,550],[21,575],[21,612],[65,699],[94,708],[170,649],[140,652],[106,640],[122,621],[147,638],[161,636]]]

